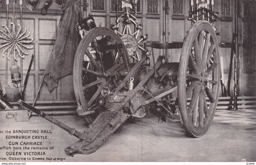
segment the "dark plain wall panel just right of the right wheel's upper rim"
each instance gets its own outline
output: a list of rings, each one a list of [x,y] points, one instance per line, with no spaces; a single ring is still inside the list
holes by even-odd
[[[231,43],[232,42],[232,22],[220,22],[220,42]]]

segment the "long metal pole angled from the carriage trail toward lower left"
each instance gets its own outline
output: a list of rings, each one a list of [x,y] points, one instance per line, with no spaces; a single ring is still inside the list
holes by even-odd
[[[62,122],[54,119],[51,116],[48,116],[47,114],[43,113],[42,111],[40,111],[39,109],[36,109],[33,106],[30,106],[29,104],[25,103],[22,100],[18,100],[18,104],[20,104],[21,106],[23,106],[24,108],[30,110],[31,112],[34,112],[36,114],[38,114],[39,116],[45,118],[46,120],[48,120],[49,122],[52,122],[53,124],[59,126],[60,128],[62,128],[63,130],[67,131],[70,135],[75,136],[76,138],[82,139],[86,142],[91,142],[91,139],[87,139],[86,136],[84,136],[84,134],[76,131],[74,128],[70,128],[67,125],[63,124]]]

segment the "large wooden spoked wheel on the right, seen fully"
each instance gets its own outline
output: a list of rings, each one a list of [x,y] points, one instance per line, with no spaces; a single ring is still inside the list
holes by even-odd
[[[215,30],[209,22],[197,21],[189,29],[178,75],[182,122],[190,135],[201,137],[211,125],[220,88],[220,54]]]

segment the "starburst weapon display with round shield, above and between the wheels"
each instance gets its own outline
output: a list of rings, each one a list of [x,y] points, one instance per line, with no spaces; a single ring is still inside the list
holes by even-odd
[[[126,0],[127,1],[127,0]],[[137,5],[137,2],[135,1],[135,6]],[[116,19],[116,25],[112,24],[111,29],[115,31],[117,35],[119,35],[124,42],[124,45],[128,51],[129,57],[132,57],[134,59],[134,62],[140,61],[140,56],[138,54],[138,49],[142,51],[147,51],[147,54],[150,53],[148,50],[145,50],[142,48],[139,43],[143,42],[148,39],[148,35],[141,35],[140,40],[137,41],[140,31],[142,30],[142,24],[137,25],[138,20],[136,18],[137,16],[137,7],[135,7],[135,16],[133,16],[129,11],[128,8],[132,9],[132,5],[125,3],[122,1],[122,8],[126,9],[126,12],[119,16]],[[118,16],[118,6],[116,6],[117,10],[117,16]],[[119,32],[119,26],[123,23],[124,29],[122,32]],[[134,32],[132,32],[130,28],[130,24],[134,25]],[[116,54],[116,57],[118,57],[118,53]]]

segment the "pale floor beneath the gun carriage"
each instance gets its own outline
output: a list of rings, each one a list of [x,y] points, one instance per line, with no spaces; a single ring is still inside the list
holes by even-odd
[[[77,116],[54,116],[68,126],[83,131],[87,124]],[[0,123],[0,130],[52,130],[44,146],[53,150],[41,150],[45,156],[65,158],[63,161],[256,161],[256,110],[217,110],[208,132],[201,138],[188,138],[181,123],[158,122],[158,118],[147,115],[135,122],[124,123],[95,153],[67,156],[65,147],[77,141],[66,131],[33,116],[28,122]],[[0,134],[1,135],[1,134]],[[41,134],[40,134],[41,135]],[[0,147],[8,145],[9,139],[1,136]],[[13,140],[12,140],[13,141]],[[28,141],[28,140],[24,140]],[[34,140],[35,141],[35,140]],[[38,141],[38,140],[37,140]],[[0,156],[7,157],[0,150]],[[18,156],[17,156],[18,157]],[[32,160],[31,160],[32,161]]]

